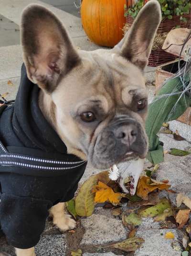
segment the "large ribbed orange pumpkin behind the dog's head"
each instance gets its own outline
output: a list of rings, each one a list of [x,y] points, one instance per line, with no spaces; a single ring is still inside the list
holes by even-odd
[[[83,0],[81,18],[85,33],[100,46],[114,47],[123,37],[127,0]]]

